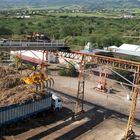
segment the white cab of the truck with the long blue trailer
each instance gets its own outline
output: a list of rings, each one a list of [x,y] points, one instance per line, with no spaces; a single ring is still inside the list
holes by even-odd
[[[62,108],[62,100],[55,94],[52,94],[52,107],[54,111],[60,110]]]

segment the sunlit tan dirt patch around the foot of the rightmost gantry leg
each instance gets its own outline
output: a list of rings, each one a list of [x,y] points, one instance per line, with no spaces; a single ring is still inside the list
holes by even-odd
[[[110,118],[76,138],[76,140],[120,140],[124,136],[125,126],[126,122]],[[135,126],[134,131],[137,134],[135,139],[140,139],[140,126]]]

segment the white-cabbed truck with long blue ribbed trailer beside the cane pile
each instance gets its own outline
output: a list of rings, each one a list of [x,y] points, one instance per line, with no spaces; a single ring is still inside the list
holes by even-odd
[[[0,127],[31,117],[43,111],[59,111],[61,109],[61,98],[49,92],[44,98],[38,101],[0,107]]]

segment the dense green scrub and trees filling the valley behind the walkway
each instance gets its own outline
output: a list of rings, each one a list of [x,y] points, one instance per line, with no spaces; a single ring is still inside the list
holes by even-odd
[[[65,40],[72,49],[82,49],[88,41],[94,48],[122,43],[140,44],[140,19],[68,16],[62,14],[34,15],[30,19],[3,17],[0,19],[0,36],[25,39],[31,32],[44,33],[56,40]]]

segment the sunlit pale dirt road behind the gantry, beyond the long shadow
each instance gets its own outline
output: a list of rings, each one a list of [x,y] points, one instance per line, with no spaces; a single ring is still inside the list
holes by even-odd
[[[53,87],[53,89],[62,91],[68,95],[76,97],[78,88],[78,78],[61,76],[53,76],[53,78],[55,80],[55,86]],[[117,84],[114,80],[108,79],[108,85],[113,87],[115,93],[102,93],[94,90],[94,87],[97,85],[97,80],[97,77],[95,77],[92,81],[86,80],[85,101],[128,115],[131,106],[131,101],[128,101],[126,96],[127,92],[130,92],[129,89],[127,89],[126,91],[121,87],[121,85]],[[136,111],[136,118],[138,119],[140,119],[139,114],[140,98],[138,98]]]

